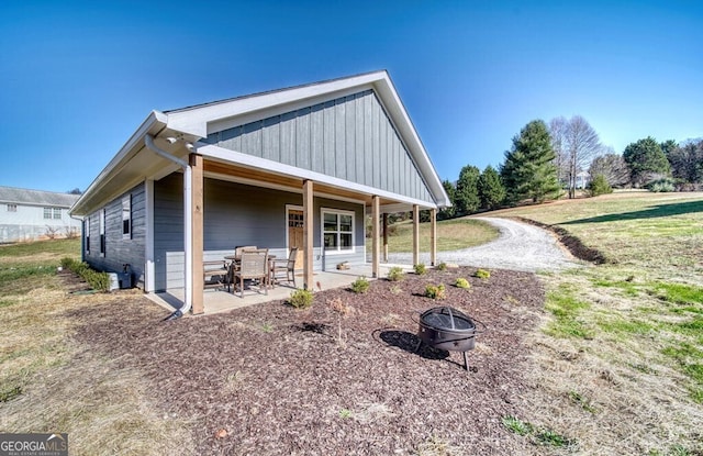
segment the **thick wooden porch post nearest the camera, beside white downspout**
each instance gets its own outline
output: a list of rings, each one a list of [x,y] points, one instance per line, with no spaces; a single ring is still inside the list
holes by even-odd
[[[203,305],[203,277],[202,277],[202,251],[203,251],[203,178],[202,155],[190,154],[191,167],[191,194],[192,194],[192,310],[193,314],[204,312]]]

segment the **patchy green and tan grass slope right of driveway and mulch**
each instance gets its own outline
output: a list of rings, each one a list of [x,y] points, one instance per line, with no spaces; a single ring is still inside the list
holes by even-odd
[[[701,454],[691,423],[703,419],[703,193],[621,192],[490,215],[559,225],[610,259],[543,276],[549,316],[531,356],[554,403],[529,421],[558,413],[554,425],[569,423],[587,454]],[[629,446],[594,433],[606,427]]]

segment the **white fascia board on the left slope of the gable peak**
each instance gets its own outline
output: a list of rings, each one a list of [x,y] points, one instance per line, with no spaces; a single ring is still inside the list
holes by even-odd
[[[386,71],[377,71],[359,75],[328,82],[313,84],[299,88],[283,89],[274,92],[264,92],[250,97],[243,97],[231,101],[194,107],[182,111],[168,113],[168,127],[200,137],[208,136],[208,125],[222,122],[226,119],[248,114],[256,111],[268,110],[278,105],[301,102],[311,98],[321,97],[349,88],[373,84],[388,78]]]

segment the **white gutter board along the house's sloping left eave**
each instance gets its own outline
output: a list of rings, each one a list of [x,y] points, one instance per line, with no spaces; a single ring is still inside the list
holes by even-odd
[[[110,176],[124,166],[136,154],[144,144],[144,135],[152,131],[155,126],[160,130],[166,126],[167,116],[163,112],[152,111],[149,115],[142,122],[138,129],[130,136],[126,143],[120,148],[120,152],[112,157],[110,163],[100,171],[98,177],[88,186],[86,191],[78,198],[78,200],[70,208],[68,213],[70,215],[74,212],[80,213],[80,209],[87,201],[94,197],[94,193],[110,179]]]

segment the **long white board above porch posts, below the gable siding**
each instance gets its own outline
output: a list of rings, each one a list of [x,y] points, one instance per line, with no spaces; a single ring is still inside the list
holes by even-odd
[[[415,198],[408,198],[402,194],[392,193],[390,191],[364,186],[360,183],[352,182],[349,180],[339,179],[337,177],[327,176],[322,173],[298,168],[295,166],[286,165],[280,162],[255,157],[253,155],[244,154],[236,151],[230,151],[227,148],[219,147],[212,144],[198,143],[196,146],[198,148],[198,154],[202,155],[203,157],[213,158],[222,163],[247,166],[267,170],[274,174],[295,177],[299,179],[309,179],[314,182],[338,187],[345,190],[358,191],[359,193],[364,194],[376,194],[381,198],[387,198],[408,204],[417,204],[427,209],[436,208],[436,204],[427,201],[422,201]]]

